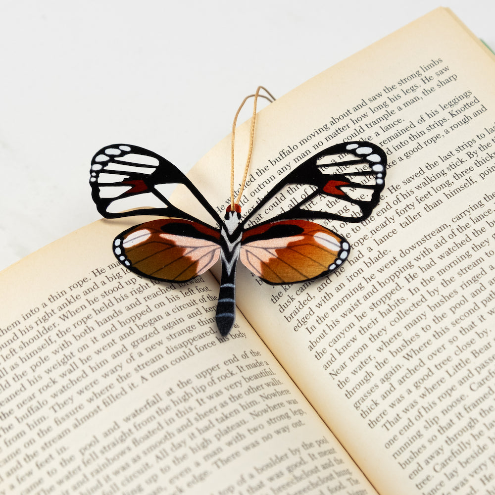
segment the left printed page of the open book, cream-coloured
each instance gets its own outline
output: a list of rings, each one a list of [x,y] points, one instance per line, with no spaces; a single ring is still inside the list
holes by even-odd
[[[218,284],[113,256],[101,220],[1,274],[0,491],[376,492]],[[149,220],[149,217],[148,219]]]

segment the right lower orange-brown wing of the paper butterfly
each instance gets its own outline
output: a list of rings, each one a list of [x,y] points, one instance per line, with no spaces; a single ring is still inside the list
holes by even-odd
[[[240,258],[269,284],[288,284],[322,277],[336,270],[349,254],[347,241],[313,222],[282,220],[245,231]]]

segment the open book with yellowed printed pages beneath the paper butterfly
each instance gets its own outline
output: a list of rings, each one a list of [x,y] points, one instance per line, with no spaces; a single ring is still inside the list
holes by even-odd
[[[387,183],[369,219],[331,225],[352,250],[330,277],[272,287],[239,267],[226,338],[214,274],[116,262],[146,218],[2,272],[1,491],[495,493],[494,80],[442,8],[262,110],[243,211],[340,141],[384,148]],[[219,212],[228,157],[226,139],[190,174]]]

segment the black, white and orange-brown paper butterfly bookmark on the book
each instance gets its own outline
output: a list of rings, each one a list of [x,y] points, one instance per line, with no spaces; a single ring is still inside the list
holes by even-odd
[[[221,335],[227,335],[235,321],[238,259],[272,285],[303,282],[335,271],[347,259],[349,244],[310,220],[360,222],[367,218],[384,188],[386,164],[385,152],[371,143],[337,144],[298,165],[244,218],[239,206],[231,211],[229,205],[225,220],[177,167],[137,146],[101,148],[92,160],[90,184],[98,211],[106,218],[171,217],[136,225],[115,238],[113,252],[129,270],[156,280],[186,282],[221,258],[215,319]],[[183,184],[216,226],[171,204],[159,191],[165,184]],[[141,200],[150,196],[159,199],[157,207],[144,207]],[[140,199],[140,207],[111,211],[127,198]],[[281,203],[285,206],[277,207]],[[260,218],[258,213],[277,209],[269,220],[253,222]]]

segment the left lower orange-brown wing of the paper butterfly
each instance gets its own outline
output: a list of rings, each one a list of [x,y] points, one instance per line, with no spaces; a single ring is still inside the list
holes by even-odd
[[[113,242],[117,259],[130,270],[167,282],[186,282],[208,270],[220,255],[219,233],[189,220],[152,220]]]

